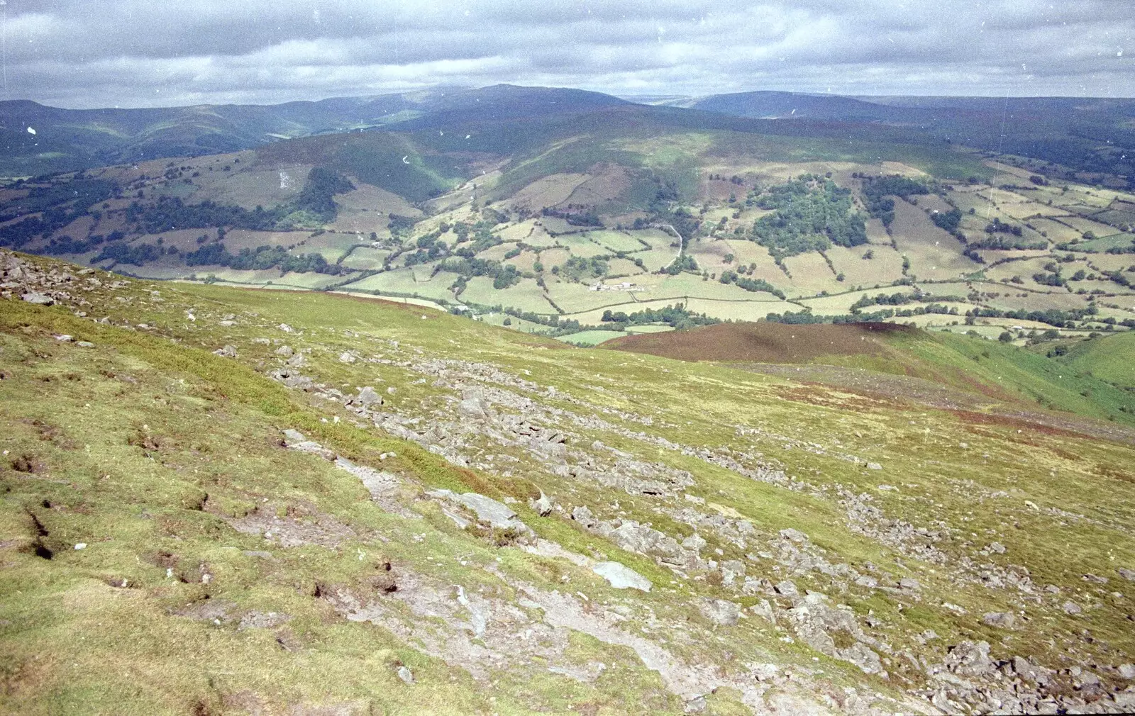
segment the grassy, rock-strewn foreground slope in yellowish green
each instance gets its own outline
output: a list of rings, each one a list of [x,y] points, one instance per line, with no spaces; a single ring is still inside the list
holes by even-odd
[[[380,301],[0,270],[3,710],[1135,696],[1129,444]]]

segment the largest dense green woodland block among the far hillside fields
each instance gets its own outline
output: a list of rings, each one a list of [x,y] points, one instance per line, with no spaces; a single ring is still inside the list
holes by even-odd
[[[831,179],[804,175],[771,187],[757,197],[756,204],[773,213],[753,225],[753,239],[768,247],[777,262],[809,251],[825,251],[832,244],[867,243],[864,218],[851,205],[851,192]]]

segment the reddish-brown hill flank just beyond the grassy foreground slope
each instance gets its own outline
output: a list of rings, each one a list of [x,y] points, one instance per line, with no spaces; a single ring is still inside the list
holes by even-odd
[[[680,361],[797,363],[822,355],[889,353],[884,336],[920,332],[896,323],[718,323],[696,330],[625,336],[605,348],[649,353]]]

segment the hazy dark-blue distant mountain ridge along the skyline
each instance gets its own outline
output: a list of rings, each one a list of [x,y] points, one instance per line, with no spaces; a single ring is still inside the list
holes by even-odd
[[[742,121],[735,126],[747,132],[800,136],[864,136],[885,126],[890,129],[884,141],[964,144],[1135,177],[1135,100],[852,98],[777,91],[620,99],[583,90],[508,84],[270,106],[68,110],[26,100],[0,102],[5,148],[0,176],[232,152],[278,140],[365,129],[444,132],[495,124],[515,134],[524,133],[524,123],[531,120],[570,123],[574,117],[631,108],[634,112],[622,120],[649,117],[671,125],[716,128]]]

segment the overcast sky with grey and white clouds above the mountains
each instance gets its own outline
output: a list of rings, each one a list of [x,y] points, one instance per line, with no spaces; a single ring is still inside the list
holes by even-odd
[[[1135,96],[1132,0],[0,2],[3,98],[70,108],[501,82]]]

